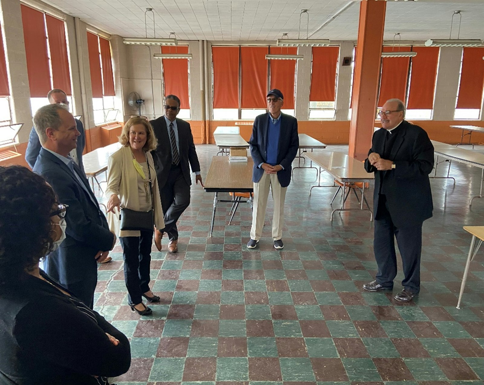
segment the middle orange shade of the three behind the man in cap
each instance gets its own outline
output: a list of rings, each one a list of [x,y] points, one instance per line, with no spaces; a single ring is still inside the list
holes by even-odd
[[[241,47],[241,108],[267,108],[268,47]]]

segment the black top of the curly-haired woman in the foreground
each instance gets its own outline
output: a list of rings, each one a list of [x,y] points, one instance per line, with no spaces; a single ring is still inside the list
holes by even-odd
[[[0,287],[0,372],[19,385],[81,385],[99,384],[91,375],[115,377],[129,369],[123,333],[96,311],[79,310],[51,284],[25,275],[15,287]]]

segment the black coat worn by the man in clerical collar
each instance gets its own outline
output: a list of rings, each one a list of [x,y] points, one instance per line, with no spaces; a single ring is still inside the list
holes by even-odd
[[[383,153],[386,131],[379,129],[373,134],[372,152]],[[423,128],[404,120],[398,126],[389,160],[395,162],[395,169],[378,171],[368,162],[364,167],[375,172],[374,211],[378,219],[378,192],[385,177],[385,195],[392,221],[397,227],[420,224],[432,217],[432,192],[428,175],[434,167],[434,146]]]

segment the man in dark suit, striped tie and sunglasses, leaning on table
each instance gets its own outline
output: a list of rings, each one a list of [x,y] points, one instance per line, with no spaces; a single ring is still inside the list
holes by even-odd
[[[168,234],[168,251],[178,251],[177,221],[190,205],[192,178],[188,163],[195,173],[195,180],[203,187],[200,163],[193,142],[190,123],[178,119],[180,99],[168,95],[164,103],[165,115],[151,120],[158,147],[151,152],[160,189],[161,205],[165,213],[165,228],[155,231],[156,248],[161,251],[161,238]]]

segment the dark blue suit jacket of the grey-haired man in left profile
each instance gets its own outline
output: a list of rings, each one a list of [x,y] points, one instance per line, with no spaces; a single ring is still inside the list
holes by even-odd
[[[66,238],[61,247],[46,258],[45,271],[62,284],[97,280],[94,257],[99,251],[111,250],[114,235],[109,231],[87,178],[83,177],[83,182],[89,194],[66,164],[45,148],[40,150],[33,171],[52,186],[59,203],[69,205],[65,216]]]

